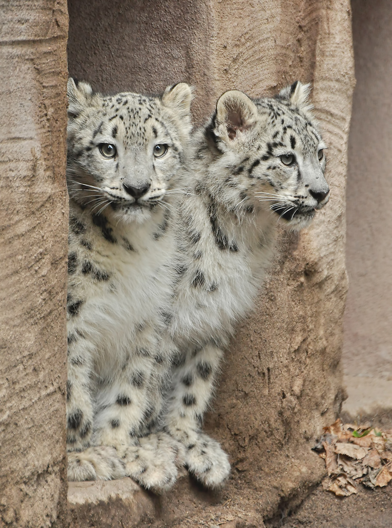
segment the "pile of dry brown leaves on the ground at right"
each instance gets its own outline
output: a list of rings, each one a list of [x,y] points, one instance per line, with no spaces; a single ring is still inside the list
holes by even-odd
[[[386,486],[392,480],[392,430],[343,424],[324,428],[316,451],[325,459],[324,489],[339,496],[358,493],[357,485]]]

